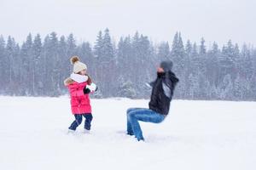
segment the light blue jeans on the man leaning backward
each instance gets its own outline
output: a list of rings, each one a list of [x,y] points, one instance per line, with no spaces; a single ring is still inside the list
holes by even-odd
[[[135,135],[138,141],[144,140],[138,121],[160,123],[164,119],[164,115],[150,109],[130,108],[127,110],[127,134]]]

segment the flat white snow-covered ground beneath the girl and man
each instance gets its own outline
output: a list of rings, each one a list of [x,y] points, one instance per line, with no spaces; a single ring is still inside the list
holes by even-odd
[[[68,97],[0,97],[0,169],[256,169],[256,103],[172,101],[145,142],[125,135],[125,111],[148,100],[93,99],[90,134],[73,122]]]

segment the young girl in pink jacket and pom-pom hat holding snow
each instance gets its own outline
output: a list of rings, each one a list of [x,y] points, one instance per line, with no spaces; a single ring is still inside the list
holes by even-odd
[[[95,92],[97,88],[86,74],[87,66],[79,61],[79,57],[73,56],[70,61],[73,64],[73,73],[64,81],[64,84],[70,93],[71,110],[75,121],[68,128],[70,132],[74,132],[84,116],[84,132],[89,133],[90,122],[93,118],[89,94]]]

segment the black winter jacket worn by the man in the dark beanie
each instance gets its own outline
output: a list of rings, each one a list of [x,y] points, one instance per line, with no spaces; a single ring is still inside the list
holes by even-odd
[[[178,78],[172,71],[157,73],[157,78],[151,82],[152,94],[149,102],[149,109],[162,115],[168,115],[170,102]]]

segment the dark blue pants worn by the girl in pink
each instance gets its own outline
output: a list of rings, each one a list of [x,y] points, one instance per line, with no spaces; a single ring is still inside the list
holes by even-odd
[[[75,114],[75,121],[68,127],[69,129],[76,130],[76,128],[82,123],[83,116],[85,118],[84,128],[90,130],[90,122],[92,121],[93,116],[91,113],[87,114]]]

